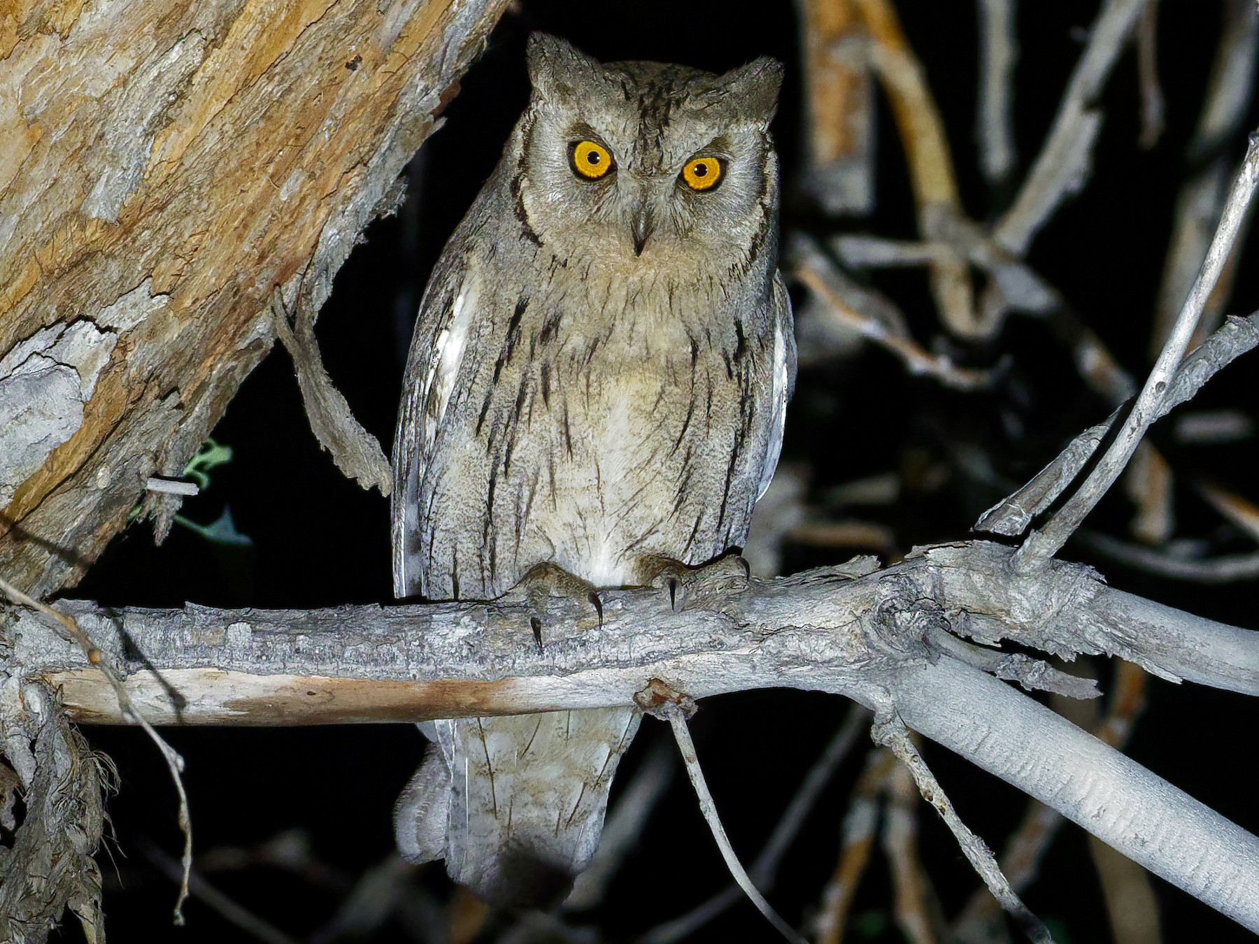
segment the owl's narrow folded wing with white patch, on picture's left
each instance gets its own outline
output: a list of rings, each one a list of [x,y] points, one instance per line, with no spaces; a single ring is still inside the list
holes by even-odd
[[[478,278],[465,253],[443,254],[419,303],[394,435],[394,595],[421,593],[419,486],[476,325]]]

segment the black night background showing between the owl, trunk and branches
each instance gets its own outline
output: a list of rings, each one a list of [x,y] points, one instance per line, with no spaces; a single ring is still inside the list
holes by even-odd
[[[977,170],[974,98],[977,28],[969,4],[900,4],[904,28],[923,60],[953,149],[967,211],[991,219],[1007,194],[991,193]],[[1016,73],[1015,127],[1020,174],[1037,152],[1056,111],[1097,4],[1021,4],[1021,59]],[[1219,34],[1215,3],[1170,0],[1160,8],[1160,72],[1167,96],[1167,130],[1142,151],[1136,141],[1138,96],[1131,50],[1104,94],[1105,126],[1093,179],[1036,239],[1029,261],[1070,301],[1131,373],[1148,368],[1151,312],[1166,252],[1173,201],[1190,169],[1187,142],[1202,102]],[[410,196],[403,211],[375,223],[336,279],[319,321],[327,369],[366,428],[388,444],[405,347],[419,292],[446,238],[488,175],[528,98],[524,43],[531,29],[567,37],[602,59],[676,60],[724,70],[755,55],[787,63],[774,126],[783,162],[784,229],[816,233],[876,232],[912,238],[914,208],[904,160],[885,102],[880,99],[878,210],[869,220],[827,223],[793,186],[801,155],[801,70],[794,8],[788,3],[563,4],[525,0],[494,33],[462,91],[446,111],[447,125],[408,170]],[[1249,127],[1259,123],[1253,110]],[[1229,147],[1240,156],[1243,136]],[[1248,253],[1254,259],[1254,253]],[[1230,311],[1259,307],[1259,279],[1243,263]],[[939,329],[919,271],[881,273],[875,283],[893,295],[915,336],[929,342]],[[794,289],[793,289],[794,291]],[[995,390],[962,394],[906,375],[879,350],[805,371],[788,412],[784,459],[813,467],[811,495],[879,472],[901,471],[906,488],[895,506],[875,510],[895,529],[901,551],[937,540],[964,539],[978,514],[1003,492],[969,478],[957,456],[962,446],[988,454],[997,472],[1017,485],[1109,407],[1088,393],[1069,349],[1044,321],[1015,317],[993,345],[953,345],[966,362],[988,366],[1011,357]],[[1195,407],[1243,407],[1254,412],[1255,355],[1225,371]],[[176,526],[155,548],[147,526],[118,537],[74,595],[107,604],[179,605],[185,600],[225,607],[324,607],[389,602],[389,510],[378,493],[344,480],[322,453],[306,422],[292,366],[277,350],[246,381],[214,433],[234,451],[212,473],[213,483],[185,502],[184,515],[209,524],[230,509],[251,546],[213,544]],[[1251,500],[1254,441],[1185,449],[1160,439],[1180,481],[1206,475]],[[923,463],[948,471],[944,485],[913,487]],[[1177,514],[1182,535],[1217,541],[1220,550],[1245,542],[1222,527],[1185,486]],[[1115,490],[1118,491],[1118,490]],[[1090,526],[1123,535],[1131,509],[1112,495]],[[861,549],[788,548],[789,570],[836,563]],[[1064,555],[1098,565],[1123,589],[1185,607],[1197,614],[1256,627],[1254,583],[1202,588],[1153,579],[1092,558],[1080,545]],[[1094,671],[1105,681],[1109,667]],[[1191,685],[1152,681],[1149,709],[1129,753],[1173,784],[1235,822],[1259,828],[1246,767],[1259,704]],[[797,691],[760,691],[711,699],[694,721],[709,783],[737,850],[750,861],[772,829],[803,772],[847,710],[842,699]],[[132,730],[87,729],[92,745],[117,764],[121,789],[108,803],[113,838],[103,858],[106,915],[115,941],[238,940],[244,935],[193,900],[188,926],[170,925],[174,886],[146,857],[147,845],[178,856],[176,803],[157,751]],[[321,928],[353,881],[379,863],[392,846],[390,811],[414,770],[423,739],[412,726],[283,730],[169,729],[165,735],[188,760],[196,848],[254,847],[281,831],[305,829],[313,855],[336,875],[308,881],[267,867],[212,874],[212,881],[246,907],[296,938]],[[622,767],[621,783],[653,741],[666,736],[647,720]],[[1240,736],[1239,736],[1240,735]],[[835,866],[840,819],[861,769],[864,751],[840,770],[787,857],[771,895],[792,923],[816,905]],[[943,749],[925,756],[961,814],[1000,848],[1025,801]],[[614,801],[613,801],[614,802]],[[946,914],[953,915],[977,880],[943,826],[920,811],[920,845]],[[448,894],[439,865],[417,881]],[[703,824],[685,777],[675,778],[638,851],[624,863],[608,900],[588,915],[609,940],[624,940],[699,902],[729,881]],[[341,885],[339,885],[341,882]],[[1168,940],[1248,940],[1231,921],[1155,880]],[[340,889],[340,890],[339,890]],[[1051,920],[1064,941],[1107,940],[1108,929],[1084,833],[1063,829],[1027,904]],[[875,853],[854,915],[862,920],[850,940],[900,940],[888,910],[886,866]],[[77,938],[67,930],[64,939]],[[387,925],[371,940],[403,940]],[[772,940],[773,933],[745,902],[730,909],[696,940]]]

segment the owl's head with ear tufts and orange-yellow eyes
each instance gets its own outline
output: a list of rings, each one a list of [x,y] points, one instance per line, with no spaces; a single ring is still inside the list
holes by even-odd
[[[558,256],[685,267],[703,254],[705,263],[743,264],[776,238],[768,127],[782,83],[777,60],[724,76],[603,64],[535,33],[529,76],[517,213]]]

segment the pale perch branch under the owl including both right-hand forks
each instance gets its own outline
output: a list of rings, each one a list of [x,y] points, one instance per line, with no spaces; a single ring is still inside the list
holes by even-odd
[[[1259,841],[930,642],[956,632],[1066,657],[1107,652],[1166,678],[1259,694],[1259,633],[1110,589],[1088,568],[1053,560],[1020,573],[1012,555],[968,542],[923,549],[879,571],[862,563],[745,587],[700,583],[681,610],[660,590],[609,590],[602,624],[589,607],[555,599],[540,652],[526,608],[514,604],[62,605],[101,646],[137,710],[162,722],[415,721],[599,707],[640,704],[636,695],[652,680],[691,697],[754,687],[846,695],[895,710],[912,729],[1259,930],[1259,895],[1248,891],[1259,889]],[[11,610],[0,628],[11,668],[60,686],[71,717],[121,720],[113,691],[43,622]]]

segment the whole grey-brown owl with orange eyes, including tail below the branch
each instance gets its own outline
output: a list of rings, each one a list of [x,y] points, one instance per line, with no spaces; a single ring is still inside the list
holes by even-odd
[[[602,64],[543,34],[528,62],[529,106],[421,302],[393,457],[399,597],[648,584],[738,550],[778,462],[796,373],[781,64]],[[495,902],[558,900],[638,721],[422,725],[399,848]]]

